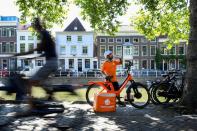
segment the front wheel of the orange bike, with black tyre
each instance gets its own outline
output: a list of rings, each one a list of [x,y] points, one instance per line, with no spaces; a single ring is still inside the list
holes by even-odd
[[[145,85],[134,83],[127,89],[127,100],[135,108],[142,109],[150,102],[150,93]]]

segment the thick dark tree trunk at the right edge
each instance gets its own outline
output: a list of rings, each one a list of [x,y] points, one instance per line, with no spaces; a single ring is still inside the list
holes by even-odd
[[[190,34],[187,48],[187,72],[182,104],[197,109],[197,0],[190,0]]]

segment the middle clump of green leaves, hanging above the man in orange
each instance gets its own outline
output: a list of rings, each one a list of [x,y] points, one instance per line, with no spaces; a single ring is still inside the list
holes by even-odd
[[[127,0],[75,0],[82,9],[83,19],[89,20],[96,31],[113,34],[120,22],[118,16],[125,14],[129,3]]]

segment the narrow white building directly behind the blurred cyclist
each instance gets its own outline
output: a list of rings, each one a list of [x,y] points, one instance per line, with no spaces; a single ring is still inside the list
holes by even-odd
[[[35,49],[40,40],[32,31],[25,26],[19,26],[17,29],[17,53],[28,52]],[[42,52],[34,51],[33,54],[18,56],[17,68],[22,70],[29,67],[33,72],[37,71],[45,63],[45,58],[40,57]]]

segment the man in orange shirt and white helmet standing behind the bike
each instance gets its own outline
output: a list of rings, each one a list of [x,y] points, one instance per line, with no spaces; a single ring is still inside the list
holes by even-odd
[[[105,51],[104,57],[106,61],[101,67],[101,72],[105,75],[106,80],[112,82],[114,90],[119,90],[120,86],[116,78],[116,66],[122,64],[122,59],[113,60],[112,51],[109,50]],[[119,105],[125,106],[125,103],[120,101],[120,96],[117,96],[117,99]]]

